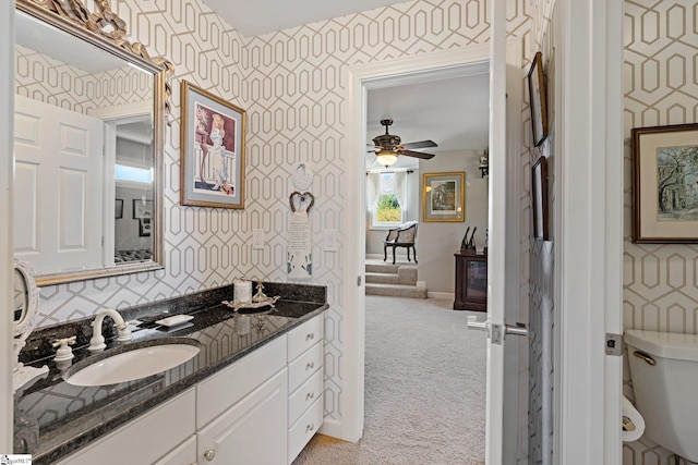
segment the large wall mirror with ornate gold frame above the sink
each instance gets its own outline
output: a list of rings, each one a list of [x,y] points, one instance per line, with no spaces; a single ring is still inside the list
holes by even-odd
[[[172,65],[87,1],[16,0],[14,255],[39,285],[163,267]]]

